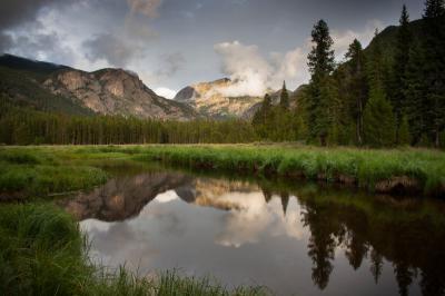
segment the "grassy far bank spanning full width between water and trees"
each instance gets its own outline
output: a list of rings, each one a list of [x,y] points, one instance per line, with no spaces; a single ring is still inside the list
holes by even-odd
[[[106,181],[116,161],[160,161],[198,170],[343,184],[370,193],[445,197],[445,152],[283,145],[3,147],[0,193],[44,197]]]

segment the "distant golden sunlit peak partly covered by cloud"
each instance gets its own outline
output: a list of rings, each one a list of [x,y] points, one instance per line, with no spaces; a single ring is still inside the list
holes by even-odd
[[[260,102],[263,97],[225,96],[225,89],[228,89],[233,83],[228,78],[195,83],[181,89],[174,100],[188,103],[196,112],[205,117],[243,117],[245,111]]]

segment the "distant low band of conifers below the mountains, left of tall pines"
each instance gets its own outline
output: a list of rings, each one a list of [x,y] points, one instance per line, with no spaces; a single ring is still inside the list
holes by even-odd
[[[160,121],[122,116],[69,116],[12,106],[0,99],[0,144],[208,144],[258,140],[250,122]]]

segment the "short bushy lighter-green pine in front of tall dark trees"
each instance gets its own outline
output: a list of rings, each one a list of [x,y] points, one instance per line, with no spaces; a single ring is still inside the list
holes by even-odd
[[[373,90],[364,114],[366,144],[387,147],[394,144],[395,120],[390,103],[382,89]]]

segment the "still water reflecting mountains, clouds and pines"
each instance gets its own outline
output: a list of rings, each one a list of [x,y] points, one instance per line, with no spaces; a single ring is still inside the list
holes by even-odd
[[[120,170],[62,203],[90,256],[277,295],[443,295],[445,206],[316,185]]]

